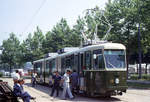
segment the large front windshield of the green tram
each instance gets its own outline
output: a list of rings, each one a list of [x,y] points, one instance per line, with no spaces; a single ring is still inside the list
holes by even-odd
[[[125,68],[124,50],[105,50],[106,68]]]

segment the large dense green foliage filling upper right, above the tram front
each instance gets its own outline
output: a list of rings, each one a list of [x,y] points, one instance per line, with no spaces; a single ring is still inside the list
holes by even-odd
[[[113,25],[108,40],[123,43],[127,48],[128,57],[138,53],[137,27],[139,23],[141,25],[142,53],[149,52],[149,7],[149,0],[110,0],[105,8],[105,14]]]

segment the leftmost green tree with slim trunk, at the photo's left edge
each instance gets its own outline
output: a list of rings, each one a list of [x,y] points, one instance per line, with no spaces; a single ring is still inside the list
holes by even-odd
[[[19,64],[19,50],[20,42],[14,33],[10,33],[10,37],[3,41],[2,47],[2,62],[8,63],[10,67],[10,73],[12,66]]]

